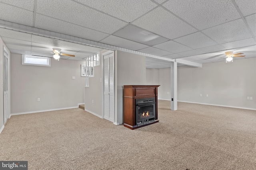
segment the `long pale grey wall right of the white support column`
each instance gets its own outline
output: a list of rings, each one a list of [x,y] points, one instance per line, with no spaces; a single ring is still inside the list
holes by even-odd
[[[256,109],[255,87],[256,58],[178,67],[179,101]]]

